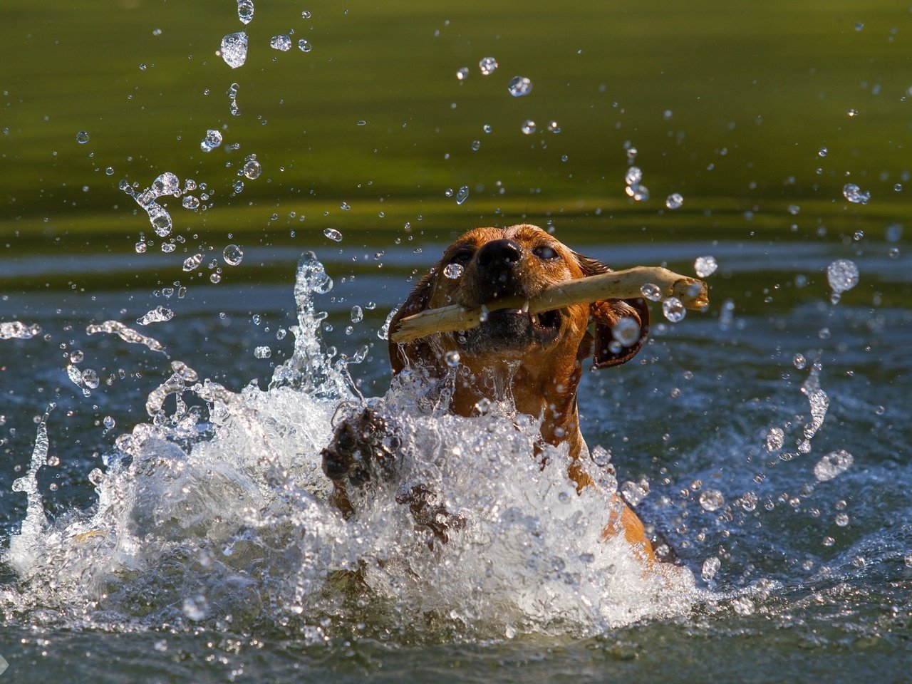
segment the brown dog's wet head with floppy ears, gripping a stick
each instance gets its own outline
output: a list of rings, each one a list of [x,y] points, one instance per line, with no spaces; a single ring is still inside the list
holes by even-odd
[[[532,299],[548,285],[609,270],[534,225],[476,228],[447,247],[440,262],[421,278],[393,317],[390,330],[396,329],[400,319],[425,309],[453,304],[493,308],[501,297]],[[622,318],[632,319],[639,327],[635,341],[627,347],[612,335]],[[587,331],[590,323],[595,324],[595,335]],[[544,374],[566,387],[584,358],[594,357],[596,368],[633,358],[646,341],[648,324],[649,312],[642,299],[608,299],[538,315],[498,309],[470,330],[438,333],[402,345],[390,342],[389,357],[394,373],[418,365],[437,376],[446,371],[447,359],[452,358],[448,353],[453,351],[459,353],[461,364],[475,372],[519,361],[534,368],[534,375]]]

